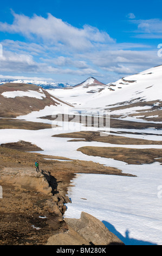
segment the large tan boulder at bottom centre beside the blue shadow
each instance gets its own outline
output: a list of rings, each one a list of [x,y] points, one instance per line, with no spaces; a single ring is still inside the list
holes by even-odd
[[[68,230],[48,239],[47,245],[124,245],[94,216],[81,212],[80,219],[64,218]]]

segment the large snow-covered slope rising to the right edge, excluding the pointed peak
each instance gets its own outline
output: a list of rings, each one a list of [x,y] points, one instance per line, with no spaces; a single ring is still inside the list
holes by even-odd
[[[109,109],[115,117],[161,121],[162,65],[107,84],[82,99],[80,107]]]

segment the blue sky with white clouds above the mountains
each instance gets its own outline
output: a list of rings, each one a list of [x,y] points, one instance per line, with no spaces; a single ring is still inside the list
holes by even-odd
[[[161,65],[161,8],[161,0],[1,1],[0,79],[110,83]]]

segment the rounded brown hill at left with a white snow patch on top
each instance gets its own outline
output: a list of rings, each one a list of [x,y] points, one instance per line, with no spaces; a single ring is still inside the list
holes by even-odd
[[[0,86],[0,117],[15,118],[45,107],[69,106],[35,84],[5,83]]]

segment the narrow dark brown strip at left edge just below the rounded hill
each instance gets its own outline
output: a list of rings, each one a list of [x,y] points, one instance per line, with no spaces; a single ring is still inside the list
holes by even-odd
[[[0,118],[0,129],[41,130],[50,128],[50,124],[36,123],[32,121],[18,119],[16,120],[10,118]]]

